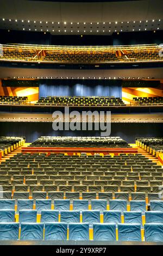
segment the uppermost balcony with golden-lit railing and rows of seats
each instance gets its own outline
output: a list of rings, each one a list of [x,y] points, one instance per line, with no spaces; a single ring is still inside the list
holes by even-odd
[[[53,46],[1,45],[1,62],[51,64],[149,63],[163,61],[163,45]]]

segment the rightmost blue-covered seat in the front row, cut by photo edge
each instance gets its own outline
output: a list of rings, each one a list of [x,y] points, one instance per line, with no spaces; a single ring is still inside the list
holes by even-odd
[[[163,242],[163,224],[158,224],[158,223],[145,224],[145,241]]]

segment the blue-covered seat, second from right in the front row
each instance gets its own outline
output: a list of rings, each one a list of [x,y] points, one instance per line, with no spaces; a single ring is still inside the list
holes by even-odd
[[[141,241],[141,224],[118,224],[118,241]]]

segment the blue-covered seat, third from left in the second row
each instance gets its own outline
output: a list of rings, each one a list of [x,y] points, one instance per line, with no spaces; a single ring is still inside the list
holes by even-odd
[[[58,222],[59,211],[58,210],[42,210],[41,211],[41,222]]]

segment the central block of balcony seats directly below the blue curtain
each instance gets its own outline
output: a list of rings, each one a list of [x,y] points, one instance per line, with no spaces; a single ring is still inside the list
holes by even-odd
[[[35,105],[49,106],[126,106],[120,97],[114,96],[47,96],[41,97]]]

